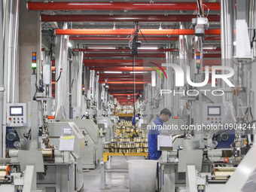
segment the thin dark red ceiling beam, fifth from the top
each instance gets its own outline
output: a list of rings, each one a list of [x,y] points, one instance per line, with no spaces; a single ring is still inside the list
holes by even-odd
[[[130,49],[72,49],[72,51],[78,52],[130,52]],[[166,51],[178,51],[178,49],[140,49],[139,52],[166,52]]]

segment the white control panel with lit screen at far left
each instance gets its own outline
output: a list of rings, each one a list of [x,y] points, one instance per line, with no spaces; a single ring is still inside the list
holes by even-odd
[[[6,126],[26,126],[26,103],[8,103]]]

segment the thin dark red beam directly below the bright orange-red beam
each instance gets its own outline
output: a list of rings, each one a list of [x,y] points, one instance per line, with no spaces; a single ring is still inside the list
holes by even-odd
[[[148,37],[148,36],[145,36],[145,38],[147,39],[147,41],[176,41],[178,40],[178,37]],[[145,38],[143,38],[142,36],[139,37],[139,41],[145,41]],[[204,38],[205,40],[208,40],[208,41],[220,41],[221,40],[221,37],[216,37],[216,36],[213,36],[213,37],[206,37]],[[69,37],[69,40],[80,40],[80,41],[90,41],[90,40],[93,40],[93,41],[128,41],[129,39],[126,38],[126,37],[106,37],[106,36],[90,36],[90,37],[87,37],[87,36],[80,36],[80,37]]]

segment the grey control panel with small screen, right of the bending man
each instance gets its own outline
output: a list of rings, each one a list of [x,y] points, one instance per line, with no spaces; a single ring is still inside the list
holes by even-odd
[[[224,110],[222,104],[203,104],[203,123],[208,125],[219,125],[224,122]]]

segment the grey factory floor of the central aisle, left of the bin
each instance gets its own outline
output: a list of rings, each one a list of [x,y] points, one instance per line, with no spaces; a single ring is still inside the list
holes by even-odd
[[[128,160],[143,159],[143,157],[127,157]],[[112,157],[111,169],[128,169],[123,156]],[[84,170],[84,192],[129,192],[128,172],[107,172],[105,189],[100,189],[100,165],[96,169]]]

